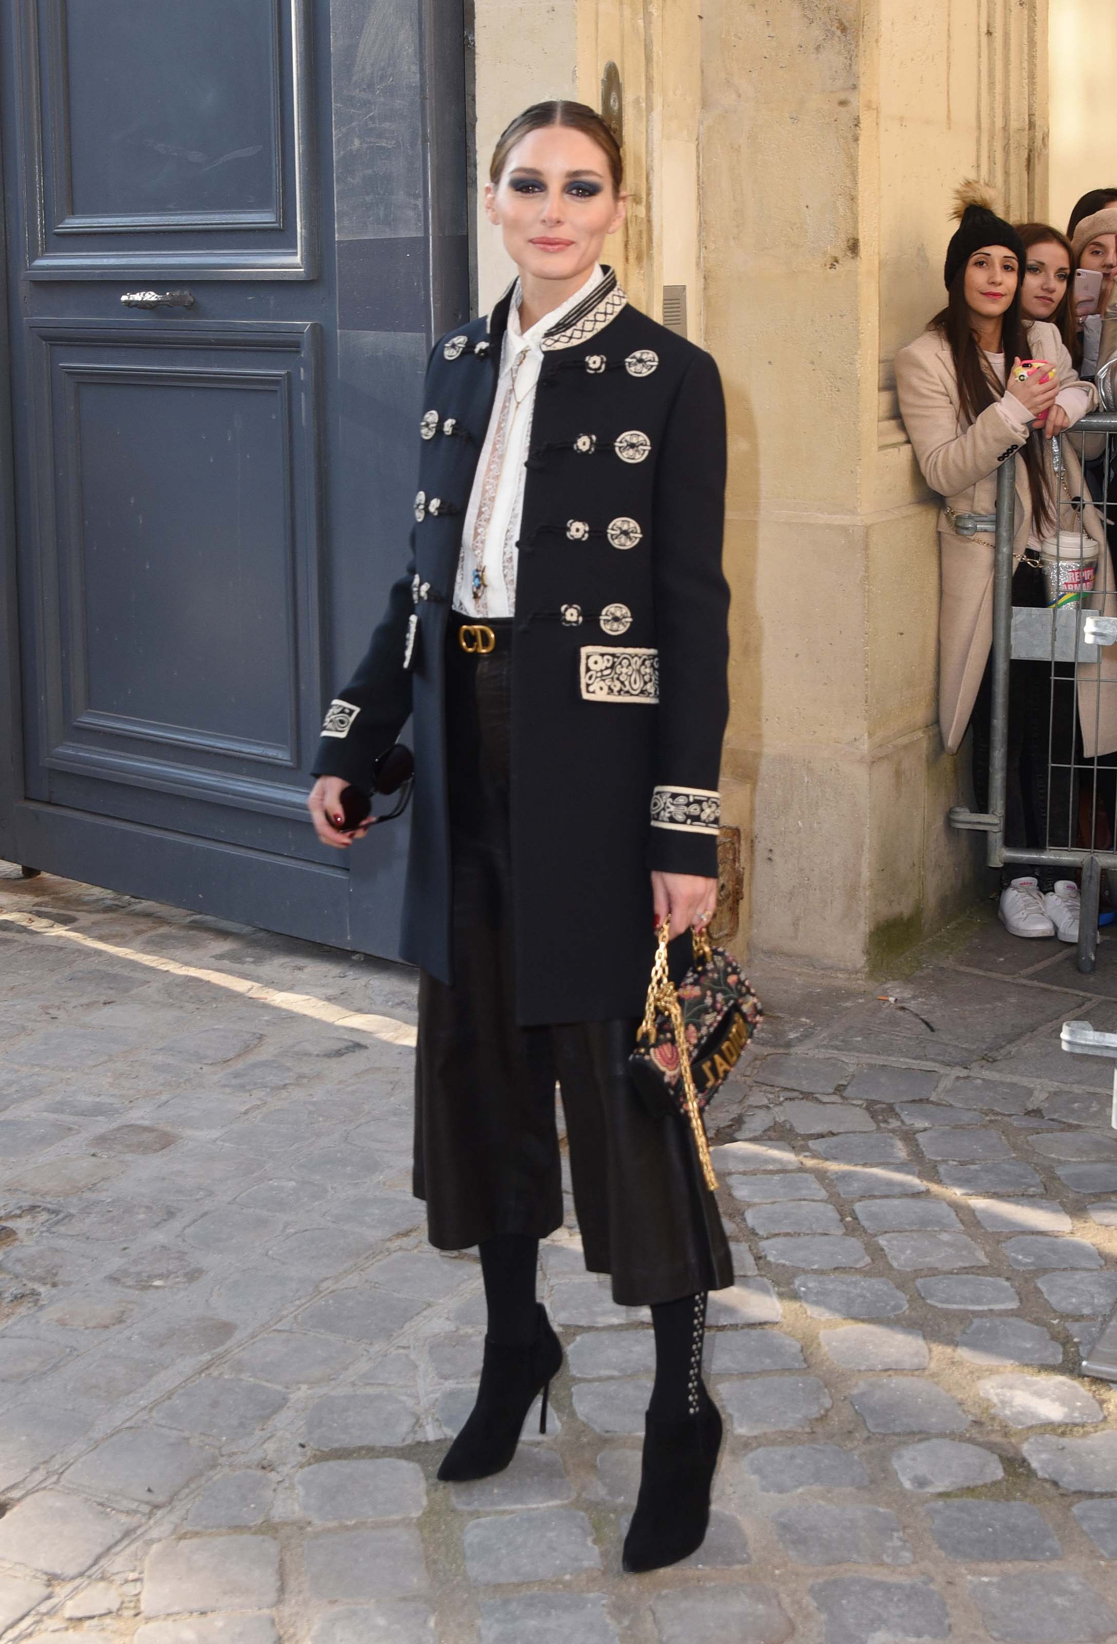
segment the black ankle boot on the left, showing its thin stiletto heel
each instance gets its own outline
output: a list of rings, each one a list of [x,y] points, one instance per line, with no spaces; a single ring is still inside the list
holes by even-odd
[[[544,1396],[539,1430],[547,1432],[547,1394],[552,1376],[562,1369],[562,1343],[540,1304],[536,1318],[536,1340],[527,1346],[501,1346],[485,1338],[476,1404],[442,1458],[440,1480],[465,1483],[503,1473],[516,1455],[524,1417],[537,1392]]]

